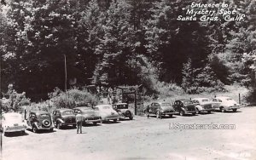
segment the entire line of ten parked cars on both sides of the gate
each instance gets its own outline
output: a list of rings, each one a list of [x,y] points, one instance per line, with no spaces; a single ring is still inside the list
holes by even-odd
[[[237,111],[240,105],[230,97],[215,97],[213,100],[207,98],[195,98],[192,100],[175,100],[174,103],[162,101],[152,102],[146,107],[144,113],[147,115],[156,115],[172,117],[174,114],[184,116],[186,114],[195,115],[196,113],[211,111]],[[127,103],[118,103],[110,105],[98,105],[92,107],[79,106],[73,109],[55,109],[52,113],[48,111],[30,111],[26,120],[23,120],[20,113],[4,113],[1,115],[0,129],[3,134],[11,132],[21,132],[25,134],[26,129],[31,129],[37,133],[38,130],[48,130],[52,132],[54,128],[62,129],[65,126],[76,127],[76,115],[81,114],[83,123],[106,123],[113,121],[116,123],[119,119],[133,119],[133,113],[128,108]]]

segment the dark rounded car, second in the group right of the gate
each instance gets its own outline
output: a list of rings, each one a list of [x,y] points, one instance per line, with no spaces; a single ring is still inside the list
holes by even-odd
[[[173,108],[179,113],[180,116],[184,116],[187,113],[192,113],[195,115],[195,104],[191,100],[175,100],[173,103]]]

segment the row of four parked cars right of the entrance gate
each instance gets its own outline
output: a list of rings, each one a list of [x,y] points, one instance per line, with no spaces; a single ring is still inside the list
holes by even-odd
[[[175,100],[173,105],[166,101],[152,102],[144,110],[145,114],[154,114],[157,118],[162,116],[172,117],[173,114],[184,116],[186,114],[199,114],[201,112],[211,113],[211,111],[237,111],[240,105],[230,97],[195,98],[191,100]]]

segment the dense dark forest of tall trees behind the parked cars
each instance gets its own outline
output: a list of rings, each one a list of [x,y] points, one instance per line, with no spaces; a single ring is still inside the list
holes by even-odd
[[[1,92],[142,84],[187,94],[238,84],[256,101],[256,1],[9,0],[1,4]],[[226,4],[228,7],[224,7]],[[1,95],[3,97],[3,94]]]

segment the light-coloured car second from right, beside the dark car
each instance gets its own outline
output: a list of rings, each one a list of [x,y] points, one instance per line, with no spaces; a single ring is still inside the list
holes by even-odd
[[[207,98],[195,98],[192,99],[192,102],[195,104],[196,113],[200,113],[201,111],[207,111],[207,113],[211,113],[215,109],[212,106],[212,100]]]

